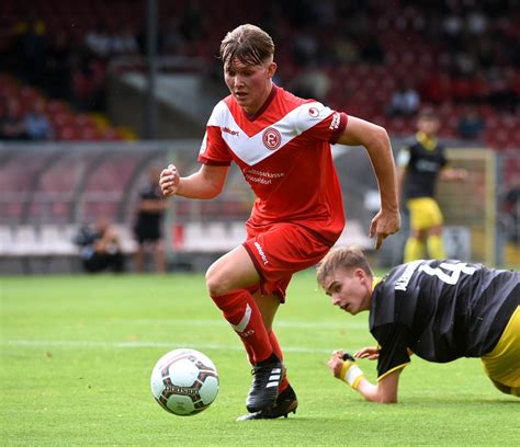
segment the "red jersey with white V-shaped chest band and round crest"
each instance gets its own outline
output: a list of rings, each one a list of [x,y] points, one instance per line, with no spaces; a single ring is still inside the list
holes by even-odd
[[[273,84],[252,117],[231,95],[215,106],[199,161],[238,164],[257,197],[249,226],[298,224],[332,245],[344,227],[344,211],[330,144],[346,125],[347,114]]]

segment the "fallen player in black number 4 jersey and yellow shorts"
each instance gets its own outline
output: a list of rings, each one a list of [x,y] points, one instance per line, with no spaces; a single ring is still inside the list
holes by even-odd
[[[502,392],[520,397],[520,274],[454,260],[414,261],[382,280],[357,248],[330,251],[317,271],[335,306],[370,310],[377,347],[353,356],[335,351],[329,368],[373,402],[397,402],[399,375],[411,353],[436,363],[481,357]],[[355,358],[377,358],[377,385]]]

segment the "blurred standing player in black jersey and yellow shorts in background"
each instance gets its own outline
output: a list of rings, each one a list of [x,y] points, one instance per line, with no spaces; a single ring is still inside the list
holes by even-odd
[[[434,199],[438,179],[463,181],[465,170],[446,168],[444,147],[437,140],[439,119],[422,112],[417,122],[418,133],[397,157],[398,183],[410,213],[410,236],[405,245],[405,262],[444,259],[442,242],[443,217]]]

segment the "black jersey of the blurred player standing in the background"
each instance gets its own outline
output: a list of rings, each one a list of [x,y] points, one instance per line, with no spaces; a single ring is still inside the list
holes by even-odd
[[[439,172],[446,164],[444,147],[417,134],[399,151],[397,164],[406,169],[404,197],[433,197]]]

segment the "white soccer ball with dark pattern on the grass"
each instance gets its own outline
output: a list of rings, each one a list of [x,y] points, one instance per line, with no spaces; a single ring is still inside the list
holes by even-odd
[[[207,409],[218,393],[213,362],[195,349],[170,351],[151,371],[151,394],[166,411],[191,416]]]

